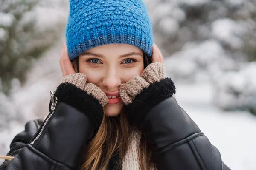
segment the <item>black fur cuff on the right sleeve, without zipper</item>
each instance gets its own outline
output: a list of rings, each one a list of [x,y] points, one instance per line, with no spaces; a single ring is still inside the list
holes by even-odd
[[[136,126],[139,125],[140,120],[151,108],[175,93],[175,85],[171,78],[165,78],[149,85],[135,97],[131,104],[127,105],[130,121]]]

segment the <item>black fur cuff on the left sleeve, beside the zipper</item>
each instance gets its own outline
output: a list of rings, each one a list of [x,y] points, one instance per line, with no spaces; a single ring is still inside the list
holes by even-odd
[[[65,102],[86,114],[93,122],[95,129],[100,126],[103,119],[103,107],[91,94],[87,94],[86,91],[71,83],[61,83],[55,96],[61,102]]]

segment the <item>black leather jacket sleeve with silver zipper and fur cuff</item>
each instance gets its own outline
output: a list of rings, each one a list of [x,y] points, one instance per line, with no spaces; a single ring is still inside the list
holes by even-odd
[[[70,83],[62,83],[54,98],[54,109],[4,170],[79,170],[87,142],[102,121],[102,105]]]

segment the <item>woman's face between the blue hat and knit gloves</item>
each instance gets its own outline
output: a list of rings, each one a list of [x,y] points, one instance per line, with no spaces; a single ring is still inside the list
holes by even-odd
[[[120,114],[124,103],[119,97],[119,86],[144,70],[143,52],[128,44],[108,44],[90,48],[79,55],[79,72],[87,81],[102,89],[108,96],[106,116]]]

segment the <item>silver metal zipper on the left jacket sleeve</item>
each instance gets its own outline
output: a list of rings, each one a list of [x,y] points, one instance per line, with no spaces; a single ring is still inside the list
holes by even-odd
[[[50,95],[51,95],[51,101],[52,101],[52,106],[51,106],[51,112],[48,114],[48,116],[46,117],[46,119],[43,122],[43,125],[41,126],[41,129],[39,131],[39,133],[37,134],[37,136],[34,138],[34,140],[30,143],[31,145],[33,145],[35,143],[36,140],[38,140],[38,138],[42,135],[45,126],[47,125],[47,123],[49,122],[49,120],[51,119],[52,115],[54,114],[55,111],[55,107],[57,105],[58,99],[55,96],[55,100],[54,100],[54,94],[55,92],[50,91]]]

